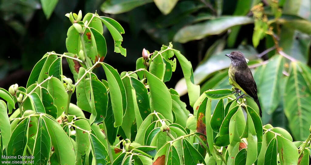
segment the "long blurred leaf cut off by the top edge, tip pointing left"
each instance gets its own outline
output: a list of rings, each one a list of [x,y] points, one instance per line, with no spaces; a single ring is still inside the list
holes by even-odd
[[[120,14],[127,11],[131,11],[132,9],[142,6],[146,3],[150,3],[152,0],[127,0],[127,1],[120,1],[120,0],[112,0],[112,1],[105,1],[100,10],[104,13],[109,14]]]

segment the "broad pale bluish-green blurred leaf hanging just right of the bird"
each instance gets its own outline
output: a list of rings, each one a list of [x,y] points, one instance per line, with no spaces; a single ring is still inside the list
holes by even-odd
[[[280,55],[271,58],[260,78],[258,78],[258,97],[263,111],[272,114],[280,101],[280,79],[283,71],[283,58]],[[270,90],[267,90],[270,89]]]

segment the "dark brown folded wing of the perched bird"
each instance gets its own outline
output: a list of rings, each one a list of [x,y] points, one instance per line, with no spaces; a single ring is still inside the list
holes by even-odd
[[[246,92],[247,95],[257,98],[257,86],[253,74],[249,68],[234,73],[235,82]]]

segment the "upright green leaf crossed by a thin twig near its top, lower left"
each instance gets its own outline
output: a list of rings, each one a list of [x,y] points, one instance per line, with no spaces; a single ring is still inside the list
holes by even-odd
[[[91,127],[88,121],[80,119],[74,122],[74,125],[86,130],[91,131]],[[89,133],[76,128],[76,145],[77,145],[77,157],[86,154],[86,151],[90,148]]]

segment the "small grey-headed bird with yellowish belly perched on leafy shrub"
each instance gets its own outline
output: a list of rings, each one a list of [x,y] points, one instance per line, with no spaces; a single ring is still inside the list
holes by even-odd
[[[244,54],[240,51],[233,51],[230,54],[226,54],[231,59],[229,67],[229,83],[238,88],[244,95],[253,97],[254,101],[258,105],[259,114],[262,117],[262,111],[257,96],[257,86],[253,78],[251,70],[247,66],[248,60]]]

